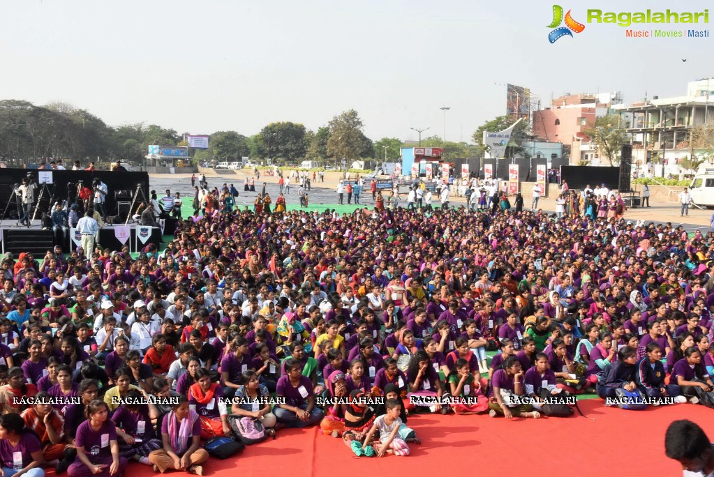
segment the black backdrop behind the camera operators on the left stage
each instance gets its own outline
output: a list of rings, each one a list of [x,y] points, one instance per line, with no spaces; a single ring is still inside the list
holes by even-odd
[[[0,207],[4,209],[10,195],[12,193],[12,187],[14,184],[21,183],[22,178],[24,178],[27,173],[31,173],[32,178],[35,182],[38,182],[39,170],[36,169],[0,169]],[[94,178],[99,178],[103,183],[106,184],[109,193],[106,195],[106,213],[107,215],[116,215],[116,200],[114,199],[114,193],[117,190],[129,190],[131,195],[136,191],[136,186],[141,185],[144,189],[144,195],[147,199],[149,197],[149,173],[146,172],[126,172],[126,171],[111,171],[111,170],[53,170],[52,171],[52,185],[48,185],[50,193],[52,193],[52,198],[47,195],[42,199],[40,204],[40,211],[46,212],[49,210],[50,203],[62,202],[63,200],[68,200],[69,202],[75,202],[76,198],[76,183],[79,180],[84,181],[86,187],[91,188],[92,181]],[[39,198],[40,190],[36,190],[35,199]],[[126,199],[131,200],[131,198]],[[0,210],[0,213],[2,211]],[[39,213],[38,213],[39,217]]]

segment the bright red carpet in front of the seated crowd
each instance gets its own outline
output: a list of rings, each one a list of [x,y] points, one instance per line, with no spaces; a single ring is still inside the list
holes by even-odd
[[[488,415],[413,416],[408,424],[422,443],[411,445],[408,457],[358,458],[342,439],[323,436],[318,428],[283,429],[275,441],[248,446],[235,458],[211,459],[204,473],[216,477],[236,477],[236,471],[241,477],[333,477],[337,473],[399,477],[413,475],[414,471],[432,477],[474,473],[681,476],[678,464],[664,455],[664,433],[670,422],[686,417],[714,440],[714,411],[704,406],[678,404],[623,411],[605,408],[597,399],[580,401],[579,405],[585,417],[576,413],[567,419],[508,422]],[[128,475],[155,474],[147,466],[131,463]]]

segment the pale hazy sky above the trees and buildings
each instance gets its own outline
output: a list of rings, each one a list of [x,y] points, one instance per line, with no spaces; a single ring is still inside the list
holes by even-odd
[[[714,4],[558,1],[587,9],[703,11]],[[431,128],[471,140],[506,110],[506,86],[546,106],[563,93],[622,91],[625,103],[681,96],[714,76],[713,40],[628,39],[587,24],[548,42],[550,1],[21,0],[0,29],[0,98],[64,101],[109,125],[252,135],[279,120],[316,129],[356,109],[373,140]],[[635,26],[642,29],[658,25]],[[682,30],[685,25],[663,25]],[[711,33],[714,33],[714,29]],[[682,59],[686,59],[683,62]]]

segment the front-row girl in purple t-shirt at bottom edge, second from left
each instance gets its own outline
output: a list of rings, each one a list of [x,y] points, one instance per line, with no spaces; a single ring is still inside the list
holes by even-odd
[[[109,420],[109,406],[99,399],[86,408],[89,417],[77,428],[77,456],[67,469],[69,477],[113,477],[126,469],[126,458],[119,456],[116,426]]]

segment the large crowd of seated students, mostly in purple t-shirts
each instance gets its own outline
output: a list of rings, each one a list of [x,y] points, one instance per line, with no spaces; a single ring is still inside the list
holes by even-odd
[[[696,403],[713,387],[712,239],[523,211],[216,210],[161,254],[5,254],[0,405],[24,426],[0,434],[33,475],[200,475],[231,416],[406,456],[413,413],[539,418],[543,390],[618,386]]]

